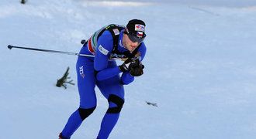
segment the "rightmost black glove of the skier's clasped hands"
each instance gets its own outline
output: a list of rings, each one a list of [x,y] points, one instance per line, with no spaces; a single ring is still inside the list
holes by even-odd
[[[130,70],[130,75],[132,76],[141,76],[144,73],[144,65],[140,62],[140,59],[132,61],[128,66],[128,69]]]

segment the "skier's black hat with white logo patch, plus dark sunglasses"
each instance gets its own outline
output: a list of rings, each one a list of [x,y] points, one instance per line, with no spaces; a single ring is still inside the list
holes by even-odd
[[[126,35],[132,42],[141,43],[144,41],[145,34],[145,22],[140,19],[132,19],[126,25]]]

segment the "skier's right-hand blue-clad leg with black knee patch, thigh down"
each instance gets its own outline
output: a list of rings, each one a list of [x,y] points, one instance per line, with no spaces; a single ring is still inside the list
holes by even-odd
[[[101,128],[97,137],[99,139],[106,139],[119,119],[119,113],[124,103],[124,90],[123,85],[120,83],[119,75],[108,80],[102,80],[97,83],[97,86],[109,101],[109,109],[102,119]]]

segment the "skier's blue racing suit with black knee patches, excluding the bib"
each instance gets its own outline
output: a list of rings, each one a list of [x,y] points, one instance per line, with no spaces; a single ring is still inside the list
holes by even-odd
[[[124,29],[119,32],[118,38],[117,48],[120,53],[127,51],[123,47],[123,32]],[[129,84],[134,80],[134,76],[131,76],[129,72],[122,73],[119,70],[115,60],[109,59],[109,56],[115,55],[115,53],[112,53],[113,36],[109,30],[105,30],[98,37],[97,46],[94,50],[92,49],[91,43],[89,39],[81,48],[80,53],[94,54],[95,57],[78,56],[76,70],[80,106],[67,120],[67,124],[61,132],[63,138],[70,138],[74,134],[74,131],[81,125],[82,121],[95,110],[97,104],[95,86],[99,87],[103,96],[109,101],[109,109],[102,119],[97,138],[108,138],[113,127],[116,125],[119,113],[123,107],[123,85]],[[138,52],[140,52],[140,60],[144,59],[146,53],[144,42],[141,43]],[[122,73],[121,76],[119,76],[119,73]]]

